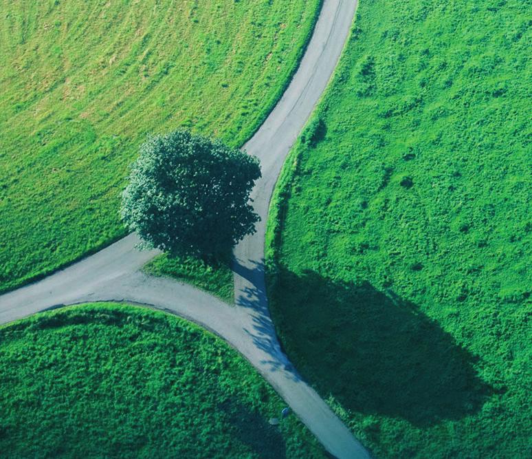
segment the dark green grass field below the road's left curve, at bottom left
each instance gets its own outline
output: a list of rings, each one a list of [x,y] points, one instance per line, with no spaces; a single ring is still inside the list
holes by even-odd
[[[0,328],[0,456],[318,458],[240,354],[182,319],[88,305]]]

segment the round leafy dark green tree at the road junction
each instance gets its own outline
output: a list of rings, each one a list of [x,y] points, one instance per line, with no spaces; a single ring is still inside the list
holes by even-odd
[[[258,159],[219,140],[175,131],[140,147],[120,215],[144,246],[203,260],[225,255],[260,217],[250,204]]]

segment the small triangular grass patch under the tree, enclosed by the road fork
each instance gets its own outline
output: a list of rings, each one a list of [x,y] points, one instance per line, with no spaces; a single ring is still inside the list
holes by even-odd
[[[195,257],[170,257],[159,255],[143,270],[155,276],[168,276],[206,290],[217,297],[233,303],[234,284],[230,255],[225,260],[205,264]]]

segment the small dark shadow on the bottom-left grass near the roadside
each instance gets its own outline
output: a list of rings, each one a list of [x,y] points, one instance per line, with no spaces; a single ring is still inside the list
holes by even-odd
[[[231,436],[249,445],[259,457],[265,459],[286,458],[285,440],[279,428],[269,425],[261,414],[234,399],[219,405],[228,419]]]

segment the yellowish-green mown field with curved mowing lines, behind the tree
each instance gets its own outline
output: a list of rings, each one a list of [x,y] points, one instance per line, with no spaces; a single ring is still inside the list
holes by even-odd
[[[147,134],[240,146],[282,94],[320,0],[0,2],[0,291],[124,234]]]

